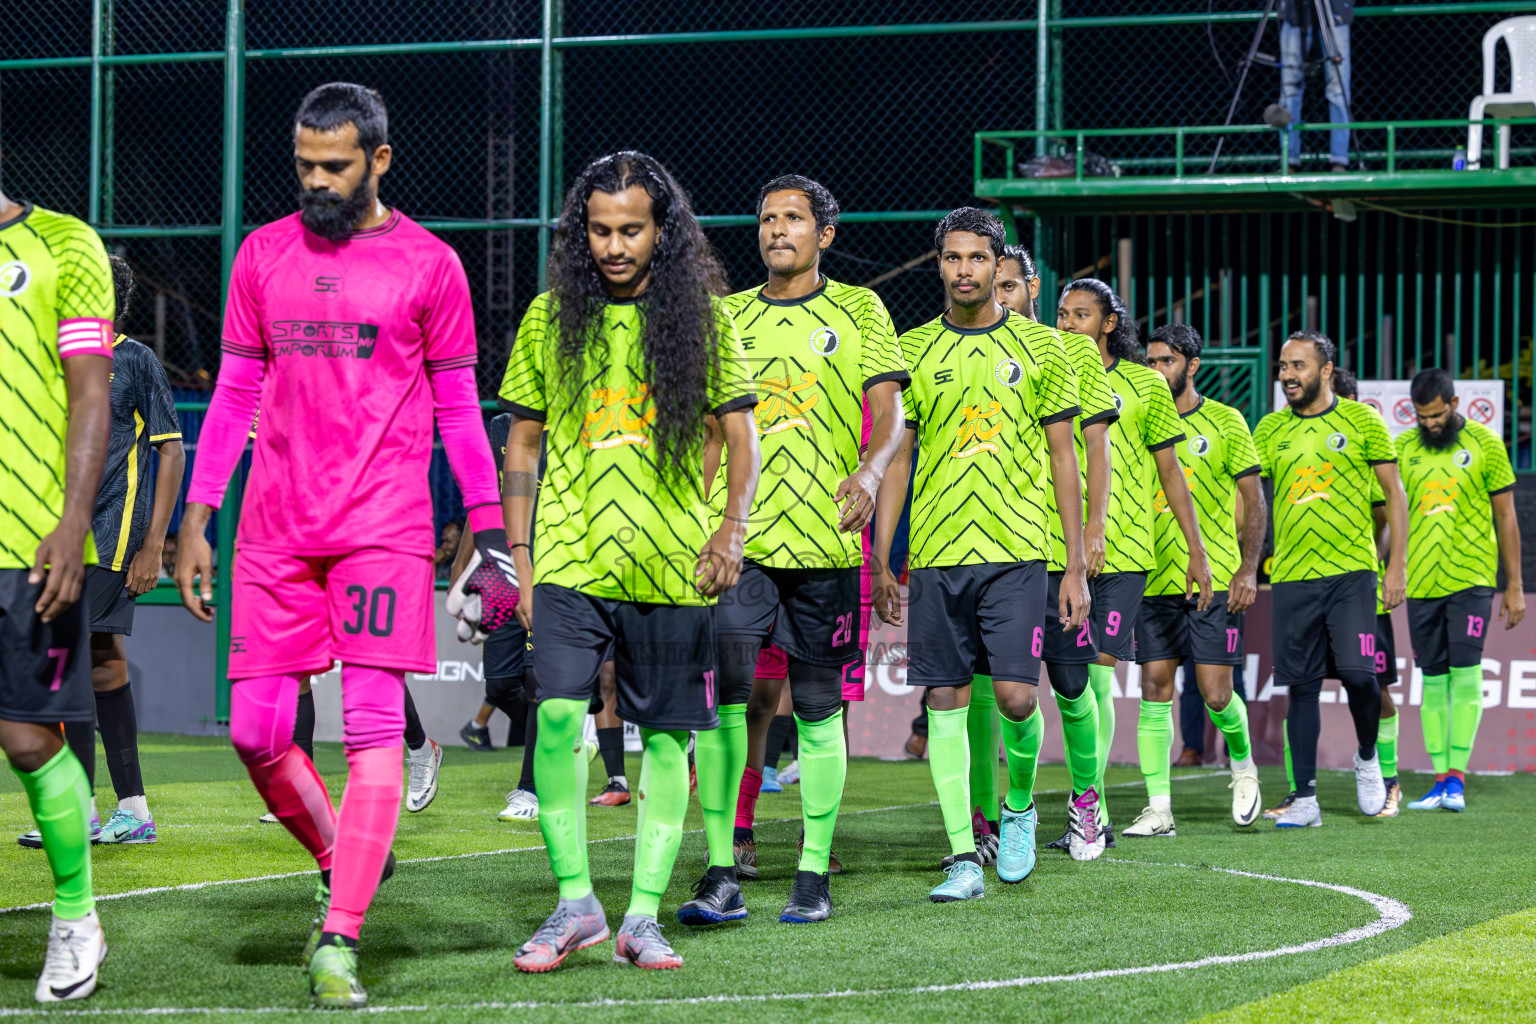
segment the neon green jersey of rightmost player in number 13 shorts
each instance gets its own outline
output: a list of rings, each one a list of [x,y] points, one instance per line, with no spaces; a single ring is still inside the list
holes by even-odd
[[[1510,453],[1482,424],[1465,421],[1442,448],[1418,427],[1398,434],[1398,468],[1409,493],[1409,597],[1444,597],[1498,586],[1499,539],[1493,494],[1514,487]]]

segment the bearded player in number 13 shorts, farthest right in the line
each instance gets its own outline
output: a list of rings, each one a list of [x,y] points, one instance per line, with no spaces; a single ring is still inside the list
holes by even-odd
[[[1435,786],[1409,808],[1462,811],[1501,553],[1499,617],[1505,629],[1525,617],[1514,471],[1499,436],[1458,411],[1450,370],[1421,372],[1409,396],[1418,425],[1396,442],[1409,491],[1409,636],[1424,671],[1424,749],[1435,766]]]

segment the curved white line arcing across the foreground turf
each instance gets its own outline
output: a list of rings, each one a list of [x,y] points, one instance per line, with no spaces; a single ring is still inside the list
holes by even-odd
[[[829,992],[771,992],[759,995],[708,995],[708,996],[687,996],[687,998],[660,998],[660,999],[587,999],[587,1001],[515,1001],[515,1003],[464,1003],[464,1004],[441,1004],[441,1006],[370,1006],[366,1007],[366,1013],[427,1013],[427,1012],[442,1012],[442,1010],[582,1010],[582,1009],[610,1009],[610,1007],[664,1007],[664,1006],[708,1006],[708,1004],[742,1004],[742,1003],[791,1003],[791,1001],[806,1001],[806,999],[845,999],[845,998],[876,998],[888,995],[935,995],[945,992],[992,992],[998,989],[1023,989],[1029,986],[1040,984],[1057,984],[1068,981],[1100,981],[1104,978],[1127,978],[1135,975],[1152,975],[1152,973],[1170,973],[1175,970],[1198,970],[1201,967],[1217,967],[1226,964],[1244,964],[1260,960],[1275,960],[1276,956],[1295,956],[1298,953],[1313,953],[1321,949],[1330,949],[1335,946],[1350,946],[1353,943],[1362,943],[1369,938],[1375,938],[1384,932],[1402,927],[1410,920],[1413,920],[1413,912],[1409,906],[1392,897],[1384,897],[1376,892],[1367,892],[1364,889],[1355,889],[1353,886],[1339,886],[1329,881],[1315,881],[1312,878],[1287,878],[1284,875],[1267,875],[1252,870],[1238,870],[1235,867],[1210,867],[1200,864],[1183,864],[1183,863],[1161,863],[1161,861],[1129,861],[1109,858],[1112,864],[1124,864],[1135,867],[1187,867],[1192,870],[1213,870],[1226,875],[1236,875],[1241,878],[1256,878],[1260,881],[1278,881],[1289,883],[1295,886],[1307,886],[1313,889],[1327,889],[1330,892],[1338,892],[1347,897],[1353,897],[1372,906],[1376,910],[1376,920],[1370,924],[1362,924],[1359,927],[1349,929],[1347,932],[1338,932],[1335,935],[1327,935],[1310,943],[1301,943],[1295,946],[1279,946],[1276,949],[1263,949],[1247,953],[1223,953],[1215,956],[1203,956],[1200,960],[1184,960],[1170,964],[1146,964],[1141,967],[1107,967],[1103,970],[1083,970],[1072,975],[1026,975],[1021,978],[998,978],[994,981],[958,981],[954,984],[942,986],[914,986],[908,989],[834,989]],[[43,1010],[32,1007],[0,1007],[0,1018],[6,1016],[232,1016],[238,1013],[252,1015],[273,1015],[273,1013],[310,1013],[312,1010],[306,1007],[141,1007],[141,1009],[81,1009],[81,1010]]]

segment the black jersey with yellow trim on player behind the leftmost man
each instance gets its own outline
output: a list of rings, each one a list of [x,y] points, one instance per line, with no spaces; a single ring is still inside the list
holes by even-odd
[[[126,568],[144,545],[154,493],[149,450],[180,439],[166,368],[147,345],[118,335],[112,344],[112,434],[91,517],[106,568]]]

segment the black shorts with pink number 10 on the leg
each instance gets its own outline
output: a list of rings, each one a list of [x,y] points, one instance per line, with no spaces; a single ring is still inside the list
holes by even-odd
[[[1370,570],[1275,583],[1275,682],[1283,686],[1376,674],[1376,574]],[[1330,660],[1332,657],[1332,660]]]

